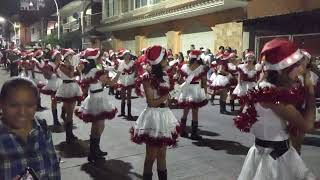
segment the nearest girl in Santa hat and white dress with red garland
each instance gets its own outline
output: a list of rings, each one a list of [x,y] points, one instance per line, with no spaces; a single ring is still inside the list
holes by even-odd
[[[267,42],[266,81],[246,96],[246,110],[235,125],[255,136],[238,180],[315,180],[289,141],[287,124],[312,131],[315,120],[314,87],[301,51],[286,39]],[[305,77],[304,89],[295,88],[298,76]],[[304,93],[305,92],[305,93]],[[298,109],[305,101],[305,111]]]

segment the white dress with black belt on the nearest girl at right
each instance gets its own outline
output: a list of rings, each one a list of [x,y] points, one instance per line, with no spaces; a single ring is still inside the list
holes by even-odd
[[[257,121],[250,132],[256,137],[255,145],[247,154],[238,180],[315,180],[315,176],[290,144],[286,122],[259,102],[254,104],[254,109]]]

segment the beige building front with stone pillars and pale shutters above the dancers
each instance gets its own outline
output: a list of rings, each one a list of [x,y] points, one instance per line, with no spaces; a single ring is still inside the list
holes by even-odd
[[[228,45],[242,50],[243,0],[104,0],[100,31],[110,34],[106,48],[134,53],[162,45],[186,54],[190,45],[216,50]]]

